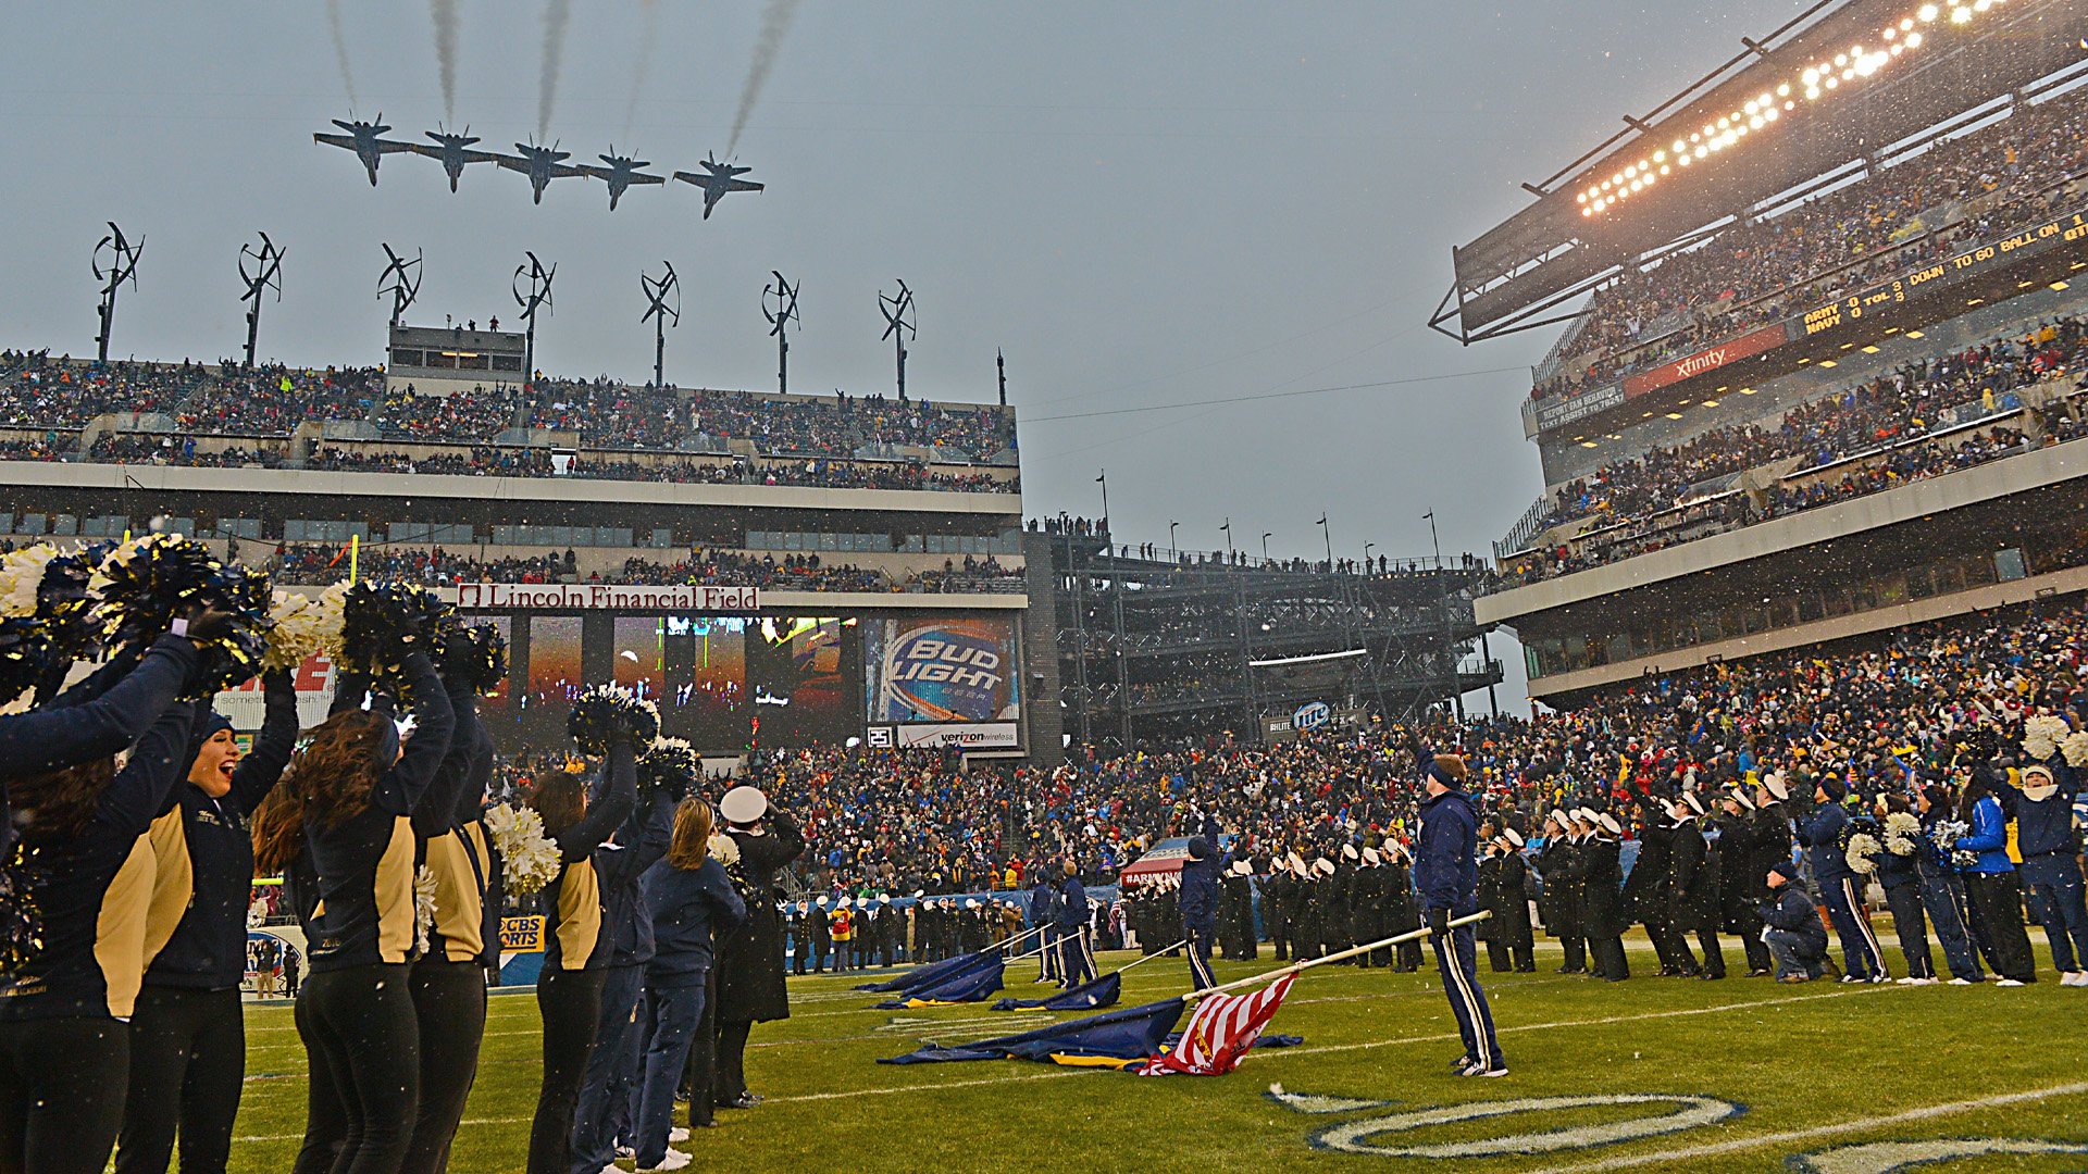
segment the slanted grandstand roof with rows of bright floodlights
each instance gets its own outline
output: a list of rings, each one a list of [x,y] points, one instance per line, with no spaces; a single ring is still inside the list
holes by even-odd
[[[1898,36],[1902,27],[1923,40]],[[1741,38],[1739,54],[1645,115],[1627,115],[1622,132],[1553,175],[1524,182],[1528,209],[1451,249],[1455,282],[1430,326],[1470,345],[1572,320],[1579,311],[1553,311],[1629,263],[1831,188],[2015,96],[2075,81],[2088,71],[2084,38],[2088,6],[2071,0],[1819,0],[1769,36]],[[1846,88],[1823,81],[1835,92],[1804,92],[1808,69],[1865,50],[1879,58],[1869,73]],[[1777,111],[1760,109],[1781,125],[1756,119],[1758,134],[1746,138],[1739,115],[1754,115],[1760,96],[1777,98]],[[1725,150],[1702,140],[1721,119],[1737,132]],[[1647,167],[1643,188],[1618,182],[1616,196],[1597,201],[1606,207],[1591,207],[1606,180],[1650,161],[1658,175]]]

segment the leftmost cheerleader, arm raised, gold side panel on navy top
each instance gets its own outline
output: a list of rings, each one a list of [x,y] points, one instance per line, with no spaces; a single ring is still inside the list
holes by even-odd
[[[226,625],[213,612],[186,631],[203,637]],[[173,696],[194,681],[198,660],[190,639],[163,637],[96,704],[6,723],[10,767],[40,767],[10,779],[31,861],[8,871],[42,913],[42,948],[0,980],[0,1170],[100,1174],[109,1164],[144,971],[152,890],[144,831],[188,767],[196,712]],[[86,712],[90,729],[65,729]],[[144,737],[121,771],[111,754],[90,752],[121,744],[125,731]],[[46,739],[31,744],[38,733]]]

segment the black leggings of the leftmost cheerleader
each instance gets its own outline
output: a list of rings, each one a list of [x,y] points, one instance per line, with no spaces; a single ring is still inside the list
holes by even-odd
[[[0,1024],[0,1172],[102,1174],[127,1086],[127,1024]]]

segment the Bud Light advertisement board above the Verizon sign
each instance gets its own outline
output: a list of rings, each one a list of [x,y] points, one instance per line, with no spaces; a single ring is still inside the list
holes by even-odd
[[[1015,721],[1015,620],[864,620],[871,723]]]

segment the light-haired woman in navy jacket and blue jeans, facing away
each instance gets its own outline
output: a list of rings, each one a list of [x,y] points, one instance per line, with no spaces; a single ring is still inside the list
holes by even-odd
[[[654,959],[645,967],[645,1080],[639,1090],[639,1170],[681,1170],[689,1155],[668,1149],[674,1128],[674,1084],[706,1015],[712,930],[748,919],[748,905],[725,865],[710,854],[710,804],[687,798],[674,813],[666,861],[645,873],[645,905],[654,925]],[[710,1126],[708,1103],[689,1101],[689,1124]]]

